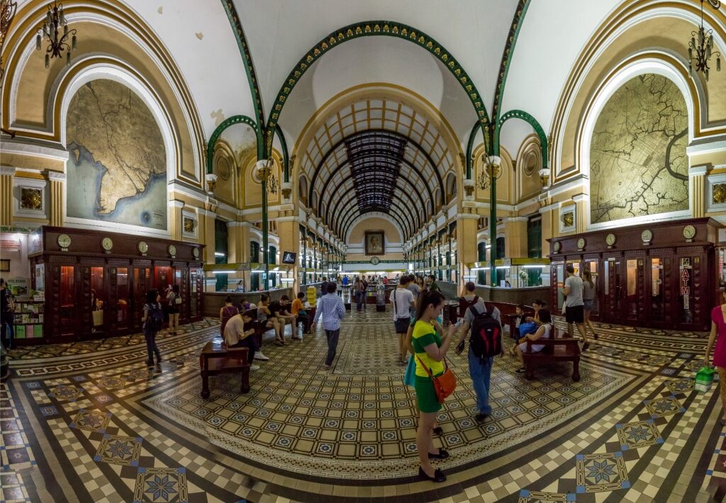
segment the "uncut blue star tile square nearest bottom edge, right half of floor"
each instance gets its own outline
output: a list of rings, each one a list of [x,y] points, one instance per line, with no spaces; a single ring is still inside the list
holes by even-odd
[[[616,491],[630,487],[622,452],[578,454],[575,459],[577,493]]]

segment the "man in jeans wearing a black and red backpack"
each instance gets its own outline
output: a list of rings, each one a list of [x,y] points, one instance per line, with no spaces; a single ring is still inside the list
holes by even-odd
[[[481,298],[470,306],[460,320],[456,351],[464,351],[464,339],[469,329],[469,374],[476,393],[477,422],[484,422],[492,414],[489,405],[489,383],[492,379],[494,356],[502,354],[502,317],[493,304],[486,306]]]

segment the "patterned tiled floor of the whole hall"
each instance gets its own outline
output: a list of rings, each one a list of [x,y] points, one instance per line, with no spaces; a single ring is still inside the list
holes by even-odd
[[[289,330],[289,329],[288,329]],[[698,394],[703,334],[599,325],[582,379],[568,365],[515,374],[495,359],[484,424],[463,356],[436,440],[449,480],[417,480],[413,390],[396,365],[390,314],[349,314],[333,369],[325,336],[265,345],[239,394],[198,353],[213,320],[138,336],[12,351],[0,390],[0,502],[708,501],[726,494],[717,393]],[[289,335],[289,334],[288,334]],[[266,338],[271,341],[272,336]],[[508,343],[508,341],[507,341]]]

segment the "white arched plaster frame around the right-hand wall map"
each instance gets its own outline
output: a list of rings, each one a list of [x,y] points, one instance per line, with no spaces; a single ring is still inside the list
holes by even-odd
[[[580,166],[580,173],[588,180],[588,193],[590,192],[590,146],[592,142],[592,131],[595,129],[597,118],[600,117],[600,113],[602,112],[603,107],[607,104],[608,99],[610,99],[624,83],[638,75],[643,75],[645,73],[661,75],[677,86],[685,101],[686,109],[688,110],[688,144],[693,142],[695,134],[693,129],[696,120],[696,106],[694,105],[694,94],[692,93],[695,93],[695,91],[691,89],[688,80],[680,71],[682,68],[679,70],[679,68],[674,65],[675,62],[657,57],[656,54],[657,53],[653,52],[638,54],[635,57],[631,57],[629,60],[621,63],[618,68],[615,68],[608,73],[603,81],[600,82],[600,85],[597,86],[597,90],[593,93],[592,99],[590,99],[587,109],[583,113],[583,120],[580,123],[577,133],[576,159]],[[688,155],[688,150],[686,150],[686,156],[689,158],[688,167],[690,168],[690,156]],[[690,189],[691,181],[689,177],[689,195]],[[587,231],[596,229],[613,229],[623,225],[635,225],[653,221],[685,218],[693,214],[693,199],[691,197],[688,198],[688,210],[669,211],[666,213],[656,213],[654,215],[635,216],[631,218],[619,218],[617,220],[607,221],[601,224],[592,224],[590,213],[591,208],[592,205],[590,197],[587,197],[587,203],[585,204]]]

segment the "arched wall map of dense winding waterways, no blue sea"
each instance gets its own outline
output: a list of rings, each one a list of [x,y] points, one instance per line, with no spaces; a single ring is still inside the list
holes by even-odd
[[[688,110],[661,75],[632,78],[600,112],[590,145],[592,224],[688,210]]]

